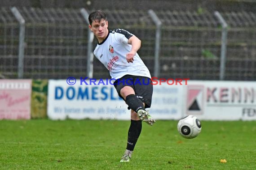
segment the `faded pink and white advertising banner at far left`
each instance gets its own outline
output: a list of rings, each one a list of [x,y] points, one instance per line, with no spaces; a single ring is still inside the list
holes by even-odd
[[[31,80],[0,80],[0,119],[31,118]]]

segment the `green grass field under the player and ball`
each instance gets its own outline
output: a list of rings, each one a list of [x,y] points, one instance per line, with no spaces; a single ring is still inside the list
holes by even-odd
[[[182,138],[177,121],[143,122],[129,163],[119,163],[129,121],[1,120],[1,170],[255,170],[256,122],[201,121]],[[220,163],[226,159],[226,163]]]

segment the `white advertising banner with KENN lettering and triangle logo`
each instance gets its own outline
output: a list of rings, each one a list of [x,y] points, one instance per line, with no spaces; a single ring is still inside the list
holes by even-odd
[[[188,81],[185,115],[205,120],[256,120],[256,82]]]

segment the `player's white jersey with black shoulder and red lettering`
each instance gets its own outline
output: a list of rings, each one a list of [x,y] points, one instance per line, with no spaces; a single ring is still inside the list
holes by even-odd
[[[113,79],[119,79],[127,74],[151,78],[148,68],[137,53],[133,63],[128,63],[126,60],[126,54],[132,49],[132,45],[128,44],[128,39],[132,35],[122,29],[110,30],[104,41],[98,43],[93,52],[109,70]]]

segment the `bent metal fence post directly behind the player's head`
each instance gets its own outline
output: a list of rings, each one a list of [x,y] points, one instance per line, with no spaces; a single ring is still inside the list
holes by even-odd
[[[88,17],[89,17],[88,12],[84,8],[82,8],[80,9],[80,13],[84,17],[84,20],[86,21],[86,23],[89,25],[90,23],[88,21]],[[94,38],[94,35],[92,31],[88,28],[87,76],[89,78],[93,77],[93,38]]]

